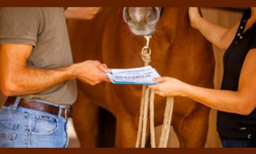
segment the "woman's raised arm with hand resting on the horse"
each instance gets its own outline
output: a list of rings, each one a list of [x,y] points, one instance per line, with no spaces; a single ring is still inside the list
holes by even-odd
[[[230,46],[239,26],[239,23],[237,23],[235,26],[228,29],[212,23],[201,17],[199,8],[197,7],[189,8],[189,17],[193,28],[199,30],[208,41],[223,50],[226,50],[228,46]]]

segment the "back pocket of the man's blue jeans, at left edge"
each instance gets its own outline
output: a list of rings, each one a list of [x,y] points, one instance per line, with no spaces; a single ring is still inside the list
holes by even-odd
[[[17,122],[0,121],[0,147],[12,148],[15,146]]]

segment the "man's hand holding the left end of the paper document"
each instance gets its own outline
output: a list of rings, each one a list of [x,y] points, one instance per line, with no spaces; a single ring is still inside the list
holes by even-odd
[[[74,64],[73,66],[75,68],[76,78],[83,82],[91,85],[99,84],[102,81],[110,82],[106,73],[110,73],[111,70],[99,61],[89,60],[79,64]]]

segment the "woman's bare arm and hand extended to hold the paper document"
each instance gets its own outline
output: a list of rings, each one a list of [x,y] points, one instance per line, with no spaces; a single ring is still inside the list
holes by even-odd
[[[244,61],[237,91],[215,90],[185,84],[178,79],[161,77],[160,84],[149,86],[162,96],[184,96],[210,108],[249,115],[256,107],[256,49],[250,50]]]

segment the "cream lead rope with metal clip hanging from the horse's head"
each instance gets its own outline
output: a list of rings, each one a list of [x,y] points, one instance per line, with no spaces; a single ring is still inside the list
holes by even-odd
[[[145,66],[149,66],[151,61],[151,48],[149,48],[149,41],[151,36],[145,36],[147,41],[146,46],[141,50],[141,58]],[[150,93],[150,96],[149,96]],[[147,135],[147,113],[149,108],[149,128],[151,135],[151,147],[156,148],[156,139],[154,131],[154,95],[155,90],[149,90],[147,85],[143,85],[143,91],[140,100],[140,117],[138,122],[138,133],[136,139],[136,148],[145,148]],[[149,107],[148,107],[149,106]],[[167,97],[165,106],[165,115],[163,119],[163,126],[159,142],[159,148],[166,148],[170,133],[170,124],[172,122],[172,111],[174,106],[174,97]]]

